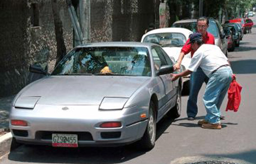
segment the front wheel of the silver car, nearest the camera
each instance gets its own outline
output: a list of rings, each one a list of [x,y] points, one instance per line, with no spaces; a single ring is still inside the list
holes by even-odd
[[[148,121],[147,127],[144,132],[142,139],[140,140],[139,145],[143,150],[151,150],[155,146],[156,142],[156,106],[153,101],[150,102],[150,108],[148,110]]]

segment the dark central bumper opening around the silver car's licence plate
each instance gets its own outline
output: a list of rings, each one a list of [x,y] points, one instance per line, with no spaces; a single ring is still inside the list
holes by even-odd
[[[52,140],[52,134],[77,134],[78,141],[93,141],[92,134],[84,131],[37,131],[37,140]]]

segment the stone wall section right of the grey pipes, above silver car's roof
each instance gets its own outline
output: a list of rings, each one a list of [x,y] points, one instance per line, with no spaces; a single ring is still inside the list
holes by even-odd
[[[91,0],[91,41],[140,41],[155,22],[155,0]]]

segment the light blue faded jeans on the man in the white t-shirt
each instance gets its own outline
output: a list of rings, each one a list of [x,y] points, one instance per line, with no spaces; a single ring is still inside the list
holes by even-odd
[[[232,70],[229,66],[219,68],[211,74],[207,83],[203,101],[206,108],[205,121],[220,123],[220,107],[232,81]]]

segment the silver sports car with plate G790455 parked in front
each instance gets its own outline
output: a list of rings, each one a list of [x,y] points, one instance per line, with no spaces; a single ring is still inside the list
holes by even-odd
[[[178,118],[181,82],[153,43],[106,42],[74,48],[49,75],[13,100],[10,129],[19,143],[54,147],[118,146],[139,140],[152,149],[156,123]]]

